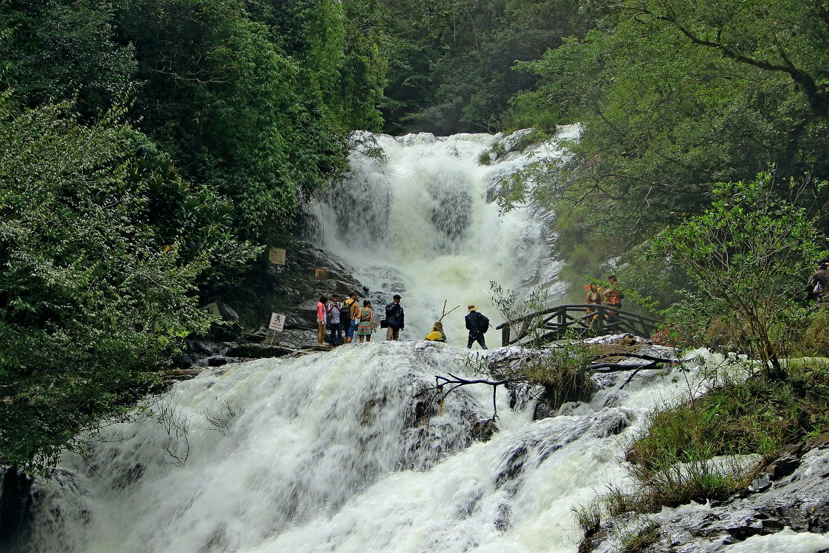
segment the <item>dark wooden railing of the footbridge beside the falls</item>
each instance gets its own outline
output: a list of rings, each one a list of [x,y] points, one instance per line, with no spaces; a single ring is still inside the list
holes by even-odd
[[[589,313],[589,310],[591,312]],[[649,337],[660,323],[655,318],[638,313],[622,311],[607,305],[577,303],[557,305],[555,307],[530,313],[496,328],[501,330],[502,346],[521,342],[531,336],[533,329],[538,329],[536,339],[540,342],[552,342],[564,337],[568,330],[574,329],[579,335],[613,334],[614,332],[631,332],[637,336]],[[512,332],[516,331],[516,337]]]

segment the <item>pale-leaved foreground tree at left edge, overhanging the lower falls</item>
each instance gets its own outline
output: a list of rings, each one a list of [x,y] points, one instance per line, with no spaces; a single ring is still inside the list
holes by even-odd
[[[210,262],[257,252],[117,114],[81,124],[70,108],[0,99],[0,463],[26,471],[153,386],[210,323],[194,295]]]

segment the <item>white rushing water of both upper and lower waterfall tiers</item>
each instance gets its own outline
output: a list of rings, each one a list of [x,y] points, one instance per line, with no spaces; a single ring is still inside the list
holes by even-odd
[[[385,163],[355,154],[351,177],[313,209],[327,249],[373,289],[404,296],[403,341],[209,369],[148,400],[144,415],[104,428],[84,458],[65,455],[35,483],[22,551],[575,550],[573,507],[623,482],[623,444],[686,383],[642,371],[620,389],[627,375],[610,376],[589,404],[535,422],[532,400],[511,409],[499,387],[497,430],[473,438],[492,417],[491,388],[465,386],[440,408],[434,377],[474,376],[478,356],[503,352],[419,338],[444,300],[462,305],[446,326],[463,337],[467,303],[496,322],[490,281],[554,282],[541,214],[499,217],[487,202],[496,177],[526,162],[478,164],[488,135],[377,140]],[[555,144],[545,152],[559,154]],[[825,536],[781,533],[732,551],[826,546]]]

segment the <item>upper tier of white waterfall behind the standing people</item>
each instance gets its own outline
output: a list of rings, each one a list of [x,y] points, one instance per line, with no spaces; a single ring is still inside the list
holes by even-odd
[[[557,141],[578,133],[576,125],[562,127],[536,154],[559,157]],[[500,322],[490,282],[508,289],[550,283],[558,264],[550,259],[539,214],[527,208],[499,216],[497,204],[487,202],[498,177],[531,157],[513,153],[502,163],[482,165],[478,158],[499,140],[490,134],[374,139],[385,161],[356,150],[350,177],[313,212],[322,217],[323,247],[351,264],[361,282],[384,290],[385,301],[392,293],[403,295],[405,339],[424,337],[444,300],[447,310],[461,306],[444,319],[450,339],[466,336],[463,316],[470,303]],[[383,306],[374,308],[382,314]]]

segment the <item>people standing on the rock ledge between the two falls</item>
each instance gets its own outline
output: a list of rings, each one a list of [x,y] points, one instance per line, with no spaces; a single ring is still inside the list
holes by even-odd
[[[379,323],[385,328],[386,340],[400,340],[400,331],[405,327],[405,312],[400,305],[400,294],[395,293],[391,302],[385,306],[385,318]],[[489,328],[489,319],[478,313],[474,305],[467,308],[466,327],[469,331],[467,347],[471,348],[478,342],[483,349],[487,349],[484,333]],[[356,292],[348,294],[347,300],[340,303],[340,296],[333,293],[331,300],[327,296],[319,298],[317,303],[317,345],[318,347],[341,346],[351,343],[354,335],[359,337],[360,343],[371,342],[371,335],[377,332],[378,323],[375,318],[371,301],[360,299]],[[328,335],[326,332],[330,331]],[[326,344],[326,338],[328,344]],[[447,342],[444,332],[444,323],[435,321],[432,330],[424,338],[433,342]]]

